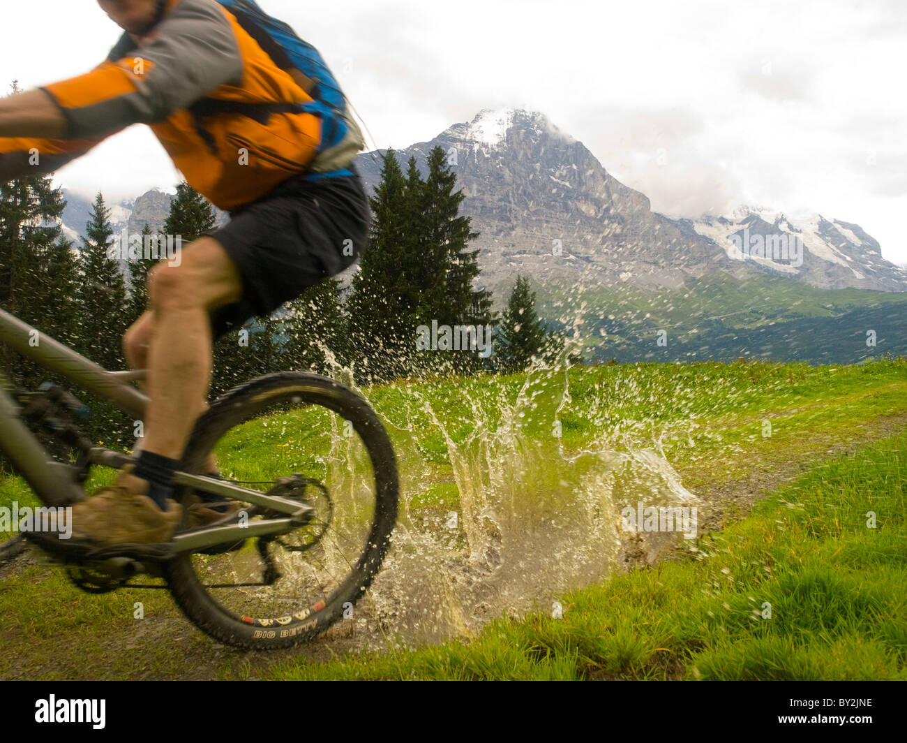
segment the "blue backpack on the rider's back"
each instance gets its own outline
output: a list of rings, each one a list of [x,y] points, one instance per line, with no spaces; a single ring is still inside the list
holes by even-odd
[[[217,0],[234,15],[243,30],[282,70],[314,99],[297,110],[316,114],[322,121],[322,140],[312,170],[325,175],[355,158],[365,140],[346,105],[346,96],[318,50],[303,41],[283,21],[265,13],[254,0]]]

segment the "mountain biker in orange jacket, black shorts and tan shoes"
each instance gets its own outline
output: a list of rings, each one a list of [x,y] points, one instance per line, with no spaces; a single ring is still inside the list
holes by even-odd
[[[149,306],[123,337],[132,368],[148,370],[141,452],[134,469],[73,507],[73,537],[162,542],[182,519],[173,477],[206,407],[212,341],[365,249],[370,213],[353,164],[363,143],[352,124],[343,141],[319,147],[327,124],[297,106],[313,100],[306,79],[215,0],[98,4],[125,32],[102,64],[0,100],[0,180],[51,173],[142,123],[186,181],[230,212],[183,248],[179,265],[149,273]],[[190,526],[220,518],[223,508],[201,502]]]

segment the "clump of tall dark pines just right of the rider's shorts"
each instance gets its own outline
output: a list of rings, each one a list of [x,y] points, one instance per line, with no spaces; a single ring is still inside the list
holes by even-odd
[[[370,202],[371,240],[347,306],[359,362],[372,378],[474,371],[484,363],[468,351],[414,352],[420,325],[493,323],[491,293],[473,285],[478,251],[470,250],[469,242],[478,233],[459,213],[465,197],[454,191],[456,174],[441,147],[432,150],[427,164],[423,179],[411,157],[404,175],[388,150]]]

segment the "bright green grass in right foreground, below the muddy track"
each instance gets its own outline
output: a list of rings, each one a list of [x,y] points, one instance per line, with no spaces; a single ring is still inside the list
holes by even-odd
[[[274,679],[907,679],[901,434],[814,468],[695,557],[472,642],[275,664]],[[867,528],[867,512],[876,516]]]

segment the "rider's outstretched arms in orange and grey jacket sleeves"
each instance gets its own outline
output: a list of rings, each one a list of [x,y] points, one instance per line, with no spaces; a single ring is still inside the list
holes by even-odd
[[[49,173],[130,124],[163,122],[222,84],[242,83],[239,43],[216,3],[176,5],[139,45],[124,36],[111,57],[90,73],[0,101],[0,179]],[[35,135],[48,138],[4,138]],[[41,162],[29,167],[34,150]]]

